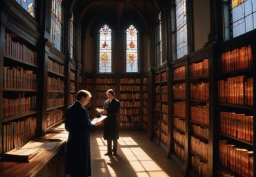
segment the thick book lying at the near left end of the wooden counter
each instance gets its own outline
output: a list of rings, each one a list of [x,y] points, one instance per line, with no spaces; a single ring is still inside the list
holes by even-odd
[[[42,148],[15,148],[5,153],[5,159],[10,161],[31,161],[42,151]]]

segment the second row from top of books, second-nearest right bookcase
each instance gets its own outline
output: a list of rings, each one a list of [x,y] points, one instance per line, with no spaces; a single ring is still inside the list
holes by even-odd
[[[197,85],[190,84],[190,97],[193,100],[209,100],[209,84],[197,83]]]

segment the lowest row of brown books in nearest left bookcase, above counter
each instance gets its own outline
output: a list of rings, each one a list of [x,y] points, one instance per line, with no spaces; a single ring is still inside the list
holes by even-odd
[[[33,116],[3,124],[3,152],[17,148],[34,137],[36,125]]]

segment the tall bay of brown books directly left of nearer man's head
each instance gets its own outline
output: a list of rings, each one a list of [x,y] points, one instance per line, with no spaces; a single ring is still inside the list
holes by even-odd
[[[49,100],[47,105],[46,130],[50,130],[63,122],[64,108],[64,62],[48,57],[47,91]]]

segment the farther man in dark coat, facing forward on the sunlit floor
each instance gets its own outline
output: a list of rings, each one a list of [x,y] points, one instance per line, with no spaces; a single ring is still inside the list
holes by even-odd
[[[114,155],[117,156],[118,150],[118,111],[120,110],[120,102],[115,98],[115,92],[112,89],[106,91],[108,100],[104,102],[103,109],[101,112],[108,117],[104,120],[104,133],[103,138],[106,140],[108,152],[105,156]],[[113,141],[113,149],[112,149]]]

